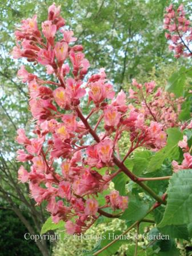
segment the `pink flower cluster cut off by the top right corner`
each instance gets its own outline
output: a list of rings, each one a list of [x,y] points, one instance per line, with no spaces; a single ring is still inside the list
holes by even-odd
[[[183,5],[180,5],[177,10],[174,10],[173,5],[166,8],[164,28],[168,32],[165,36],[170,40],[169,48],[174,51],[175,57],[179,58],[182,55],[191,57],[192,28],[185,16]]]

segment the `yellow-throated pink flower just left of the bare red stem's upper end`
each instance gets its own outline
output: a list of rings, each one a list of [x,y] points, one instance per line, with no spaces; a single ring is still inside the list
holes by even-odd
[[[61,108],[69,108],[70,106],[70,98],[67,94],[66,90],[62,87],[58,87],[53,91],[53,96],[55,98],[55,102],[57,102],[58,106]]]

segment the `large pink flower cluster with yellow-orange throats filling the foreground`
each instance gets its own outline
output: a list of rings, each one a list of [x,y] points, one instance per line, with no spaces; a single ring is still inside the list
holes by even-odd
[[[18,150],[17,160],[31,164],[30,172],[23,166],[19,168],[19,181],[29,182],[37,204],[47,201],[53,221],[65,220],[67,232],[74,234],[84,232],[99,216],[109,216],[105,208],[119,212],[127,208],[128,197],[118,191],[105,196],[104,205],[99,204],[98,196],[119,172],[128,172],[123,161],[134,149],[145,146],[159,150],[166,145],[165,129],[177,122],[181,101],[177,102],[178,110],[174,110],[169,95],[163,104],[165,94],[158,90],[153,104],[147,104],[143,95],[142,107],[138,109],[127,104],[125,92],[115,97],[105,69],[83,82],[90,64],[82,52],[83,46],[71,45],[77,38],[73,31],[63,29],[64,25],[60,7],[53,4],[48,20],[42,23],[42,32],[36,15],[23,20],[15,32],[14,58],[25,57],[30,63],[39,63],[45,66],[47,75],[55,77],[54,82],[42,80],[24,66],[18,71],[19,79],[29,87],[35,129],[33,138],[28,138],[23,129],[18,130],[17,141],[24,149]],[[142,92],[143,86],[136,81],[134,86]],[[155,84],[146,83],[144,87],[149,95]],[[130,91],[129,98],[138,100],[138,92]],[[80,103],[86,99],[94,107],[84,117]],[[95,123],[90,125],[89,119],[94,115],[99,118],[94,118]],[[130,135],[131,148],[121,160],[117,152],[123,131]],[[101,174],[101,168],[105,168],[105,174]]]

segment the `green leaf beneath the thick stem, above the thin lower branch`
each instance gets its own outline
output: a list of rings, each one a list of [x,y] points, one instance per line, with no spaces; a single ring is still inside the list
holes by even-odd
[[[145,217],[148,210],[149,204],[143,203],[136,197],[129,196],[128,208],[119,219],[136,221]]]

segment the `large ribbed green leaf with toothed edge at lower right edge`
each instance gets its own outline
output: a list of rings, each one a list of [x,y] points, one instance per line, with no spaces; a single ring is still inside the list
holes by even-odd
[[[192,169],[173,174],[167,195],[165,214],[158,226],[192,223]]]

